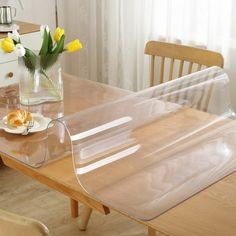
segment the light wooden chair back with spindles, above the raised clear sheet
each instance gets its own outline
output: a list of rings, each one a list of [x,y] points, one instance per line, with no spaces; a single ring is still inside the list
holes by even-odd
[[[145,47],[145,54],[151,56],[151,68],[150,68],[150,86],[155,83],[155,58],[160,57],[160,70],[159,70],[159,83],[166,81],[166,59],[170,59],[168,80],[174,79],[174,72],[177,71],[177,76],[179,78],[183,76],[184,66],[186,62],[188,63],[187,73],[193,72],[193,66],[196,66],[195,71],[199,71],[206,67],[219,66],[223,68],[224,59],[220,53],[194,48],[179,44],[159,42],[159,41],[149,41]],[[179,61],[177,63],[177,61]],[[178,67],[178,68],[177,68]]]

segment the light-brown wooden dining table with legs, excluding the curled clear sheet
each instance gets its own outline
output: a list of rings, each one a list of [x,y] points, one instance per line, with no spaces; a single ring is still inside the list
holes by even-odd
[[[74,76],[64,75],[65,98],[60,103],[33,106],[33,112],[56,119],[101,105],[129,95],[131,92],[100,84]],[[4,111],[4,108],[1,111]],[[199,113],[200,114],[200,113]],[[196,113],[197,115],[197,113]],[[201,113],[202,116],[202,113]],[[188,122],[188,116],[180,115],[175,122]],[[12,137],[14,134],[11,134]],[[23,142],[27,137],[19,136],[14,142]],[[10,140],[9,134],[0,131],[0,144]],[[4,164],[28,175],[71,199],[71,214],[78,216],[78,202],[84,205],[80,216],[80,228],[85,230],[92,210],[109,214],[110,208],[85,193],[76,179],[71,156],[46,163],[39,168],[30,167],[1,149]],[[43,155],[43,154],[42,154]],[[120,212],[121,214],[124,214]],[[147,226],[148,235],[156,232],[164,235],[236,235],[236,173],[221,179],[203,191],[188,198],[167,212],[143,221],[125,214],[127,217]]]

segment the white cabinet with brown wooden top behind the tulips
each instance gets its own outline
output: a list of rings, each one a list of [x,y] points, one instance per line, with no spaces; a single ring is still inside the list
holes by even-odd
[[[26,22],[16,22],[20,25],[19,33],[21,35],[21,43],[30,49],[39,50],[41,46],[42,36],[40,34],[40,26]],[[0,41],[7,37],[7,34],[0,33]],[[18,83],[18,58],[14,53],[6,54],[0,50],[0,87]]]

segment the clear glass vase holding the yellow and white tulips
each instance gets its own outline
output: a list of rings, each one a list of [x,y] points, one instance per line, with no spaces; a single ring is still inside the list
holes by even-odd
[[[50,65],[51,58],[36,56],[32,68],[25,58],[18,59],[20,102],[37,105],[63,100],[63,79],[59,58]],[[30,62],[31,63],[31,62]]]

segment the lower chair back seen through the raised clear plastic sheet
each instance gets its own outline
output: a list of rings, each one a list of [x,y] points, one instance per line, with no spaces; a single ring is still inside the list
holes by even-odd
[[[226,104],[229,104],[227,86],[227,74],[219,67],[211,67],[152,87],[155,89],[152,98],[221,114],[227,112]],[[220,100],[224,100],[223,105],[222,101],[216,99],[216,95],[221,97]]]

